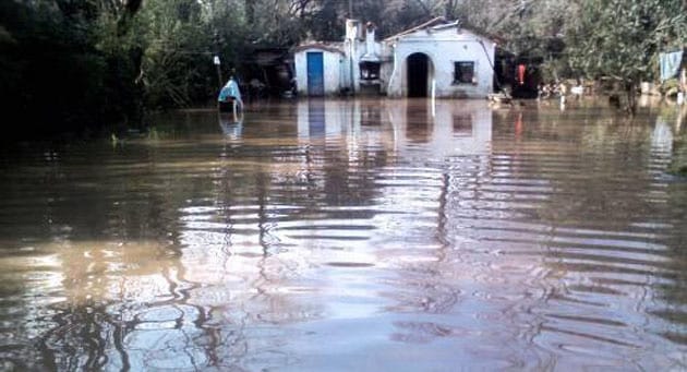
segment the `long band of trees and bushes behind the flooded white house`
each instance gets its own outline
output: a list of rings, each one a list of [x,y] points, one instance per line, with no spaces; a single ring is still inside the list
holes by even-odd
[[[0,3],[0,99],[22,135],[140,125],[146,109],[208,103],[245,56],[340,39],[343,20],[386,36],[458,19],[544,61],[550,79],[615,79],[634,97],[658,53],[687,44],[682,0],[9,0]],[[213,64],[218,56],[219,70]],[[631,103],[630,103],[631,104]]]

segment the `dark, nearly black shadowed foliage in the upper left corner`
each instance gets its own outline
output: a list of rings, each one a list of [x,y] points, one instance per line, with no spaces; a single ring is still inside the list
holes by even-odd
[[[0,99],[5,118],[19,117],[5,120],[5,133],[93,130],[104,117],[137,122],[141,87],[131,76],[143,49],[120,40],[130,37],[140,4],[0,2]]]

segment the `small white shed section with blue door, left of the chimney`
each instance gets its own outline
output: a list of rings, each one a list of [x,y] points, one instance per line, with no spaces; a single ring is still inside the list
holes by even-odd
[[[342,49],[340,43],[309,43],[294,48],[299,95],[325,96],[341,91]]]

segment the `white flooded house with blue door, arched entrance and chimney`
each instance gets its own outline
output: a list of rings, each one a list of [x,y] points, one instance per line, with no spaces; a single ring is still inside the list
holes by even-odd
[[[491,39],[443,17],[382,43],[372,24],[349,20],[343,43],[296,48],[297,84],[299,94],[309,96],[484,98],[493,92],[495,48]]]

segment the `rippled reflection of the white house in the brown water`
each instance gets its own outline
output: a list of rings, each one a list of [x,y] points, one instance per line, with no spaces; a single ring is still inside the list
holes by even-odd
[[[491,149],[492,115],[482,100],[311,99],[298,104],[298,134],[308,143],[345,141],[349,149],[374,145],[396,156],[414,151],[430,151],[435,158],[482,155]]]

